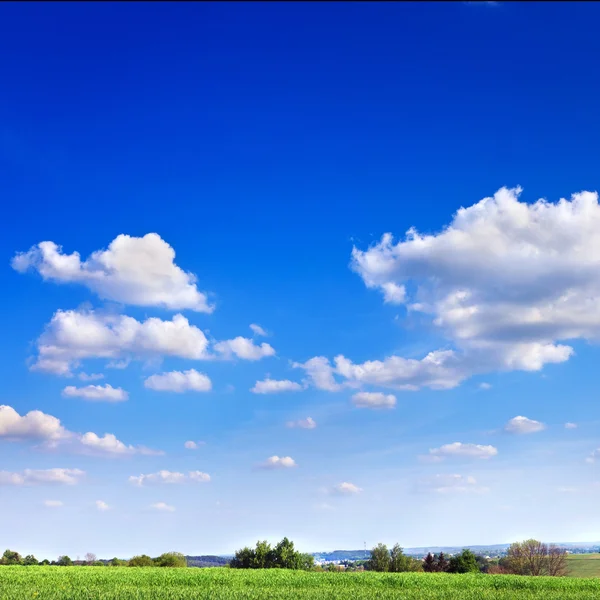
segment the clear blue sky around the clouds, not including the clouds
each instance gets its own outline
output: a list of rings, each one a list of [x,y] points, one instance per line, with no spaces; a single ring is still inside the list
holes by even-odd
[[[249,391],[267,375],[302,383],[291,361],[422,359],[457,347],[430,316],[408,318],[369,289],[349,267],[352,248],[386,232],[401,240],[410,227],[437,234],[503,186],[522,186],[529,204],[597,190],[599,22],[600,6],[579,2],[2,4],[0,404],[165,454],[49,450],[45,434],[11,434],[0,416],[0,470],[86,473],[76,485],[1,486],[0,543],[52,557],[231,552],[283,535],[313,551],[599,539],[596,468],[585,462],[600,419],[593,332],[570,336],[575,353],[560,364],[502,363],[448,390],[355,382],[331,392],[309,381],[293,393]],[[120,234],[148,233],[211,293],[212,314],[11,268],[43,241],[84,260]],[[593,233],[584,242],[595,247]],[[181,313],[215,340],[251,338],[255,323],[269,333],[255,343],[276,354],[137,360],[117,349],[133,358],[125,369],[93,355],[72,377],[31,370],[58,310],[140,322]],[[212,380],[210,392],[144,387],[152,374],[191,368]],[[104,378],[82,382],[79,372]],[[107,383],[129,399],[62,394]],[[357,408],[361,390],[393,394],[396,406]],[[285,427],[308,416],[316,428]],[[515,416],[545,428],[501,433]],[[187,450],[189,440],[206,444]],[[453,442],[498,454],[419,461]],[[256,467],[273,455],[297,467]],[[128,482],[159,470],[211,481]],[[450,475],[463,484],[431,483]],[[342,482],[362,491],[336,494]],[[549,495],[569,508],[564,518],[539,508]],[[175,510],[152,512],[157,502]]]

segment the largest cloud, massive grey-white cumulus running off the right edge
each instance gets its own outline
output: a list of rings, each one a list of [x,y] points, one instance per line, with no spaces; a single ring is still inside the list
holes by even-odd
[[[340,375],[391,388],[448,388],[478,373],[537,371],[600,338],[600,205],[591,192],[551,203],[520,189],[461,208],[437,234],[387,233],[351,267],[386,302],[429,316],[451,348],[397,356]],[[352,365],[346,365],[349,367]]]

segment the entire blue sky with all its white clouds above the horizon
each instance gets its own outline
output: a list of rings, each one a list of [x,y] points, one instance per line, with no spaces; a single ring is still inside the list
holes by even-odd
[[[6,547],[600,539],[596,4],[0,16]]]

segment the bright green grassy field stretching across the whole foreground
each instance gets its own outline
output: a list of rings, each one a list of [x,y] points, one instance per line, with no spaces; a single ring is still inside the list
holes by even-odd
[[[580,600],[600,579],[127,567],[0,567],[2,600]]]

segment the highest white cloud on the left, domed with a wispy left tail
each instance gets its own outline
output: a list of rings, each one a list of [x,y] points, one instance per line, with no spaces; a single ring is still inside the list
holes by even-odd
[[[41,242],[17,254],[12,267],[37,271],[44,280],[80,283],[104,300],[171,310],[214,310],[196,286],[196,276],[175,262],[175,251],[156,233],[117,236],[107,250],[81,261],[78,252],[64,254],[54,242]]]

